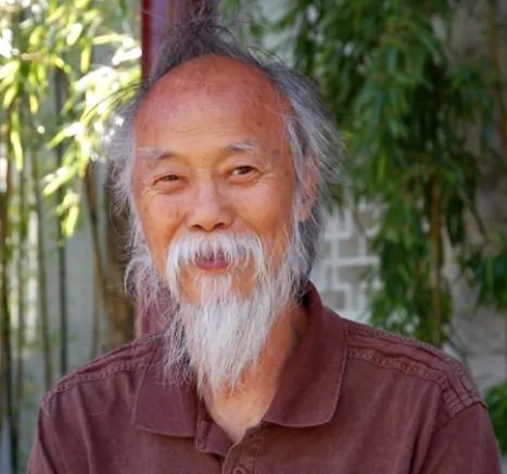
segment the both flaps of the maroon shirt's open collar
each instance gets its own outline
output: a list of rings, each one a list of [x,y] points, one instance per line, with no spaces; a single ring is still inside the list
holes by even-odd
[[[280,376],[263,420],[284,426],[317,426],[331,420],[345,367],[343,322],[322,307],[312,283],[305,295],[308,326]],[[199,400],[191,384],[164,380],[162,337],[140,381],[132,423],[172,436],[195,436]]]

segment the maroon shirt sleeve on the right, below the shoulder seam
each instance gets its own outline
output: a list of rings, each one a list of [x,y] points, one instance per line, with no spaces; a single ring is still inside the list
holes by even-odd
[[[421,474],[502,474],[487,411],[474,403],[433,433]]]

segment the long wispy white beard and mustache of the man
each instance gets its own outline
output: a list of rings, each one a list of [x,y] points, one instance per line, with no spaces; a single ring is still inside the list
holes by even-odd
[[[275,321],[294,296],[295,264],[288,248],[274,272],[256,236],[197,234],[172,244],[166,278],[175,307],[165,332],[169,376],[177,381],[192,376],[201,395],[241,386],[241,375],[255,370]],[[231,269],[198,277],[200,299],[193,303],[182,294],[179,274],[203,255],[220,255]],[[254,262],[253,290],[241,296],[235,277],[249,261]]]

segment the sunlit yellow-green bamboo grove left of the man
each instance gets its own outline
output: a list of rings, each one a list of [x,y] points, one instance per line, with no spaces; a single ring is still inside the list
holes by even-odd
[[[0,2],[0,432],[10,441],[1,465],[12,472],[22,472],[34,425],[34,411],[25,421],[23,411],[69,369],[66,241],[84,212],[96,274],[89,356],[103,348],[100,138],[115,94],[138,80],[131,17],[123,2]],[[36,380],[25,368],[34,351],[41,361]]]

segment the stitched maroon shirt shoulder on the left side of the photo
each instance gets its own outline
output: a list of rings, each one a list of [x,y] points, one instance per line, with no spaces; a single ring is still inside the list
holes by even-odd
[[[104,390],[105,395],[115,398],[115,387],[119,390],[134,389],[131,382],[141,377],[150,366],[159,341],[159,336],[136,340],[65,375],[42,398],[42,411],[54,409],[65,400],[78,398],[80,402],[86,402],[86,399],[102,397]]]

